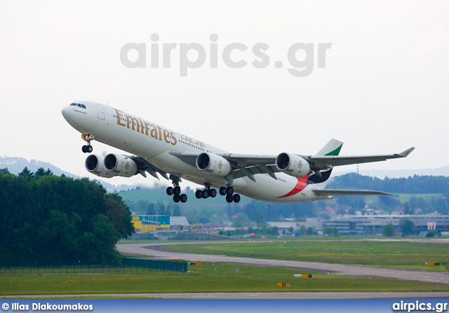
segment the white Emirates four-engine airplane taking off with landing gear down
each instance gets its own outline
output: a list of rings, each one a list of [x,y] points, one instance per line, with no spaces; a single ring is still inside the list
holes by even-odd
[[[386,155],[340,156],[342,141],[330,139],[315,155],[282,152],[279,155],[229,153],[203,141],[175,132],[112,106],[76,101],[62,109],[62,116],[81,132],[83,153],[91,153],[94,139],[132,155],[90,154],[85,167],[104,178],[147,173],[173,184],[166,189],[174,202],[186,202],[182,179],[201,186],[198,199],[215,197],[238,203],[241,195],[267,202],[328,200],[334,195],[389,195],[375,190],[324,189],[333,167],[405,158],[415,148]]]

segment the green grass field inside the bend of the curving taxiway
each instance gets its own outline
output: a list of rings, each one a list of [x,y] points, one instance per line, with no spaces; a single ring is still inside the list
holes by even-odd
[[[449,264],[449,244],[423,242],[306,241],[253,244],[201,244],[162,247],[175,251],[225,254],[249,258],[272,258],[324,263],[348,263],[444,272]],[[440,263],[427,266],[426,262]]]

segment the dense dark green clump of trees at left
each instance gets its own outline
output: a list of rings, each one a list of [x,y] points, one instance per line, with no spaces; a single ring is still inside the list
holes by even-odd
[[[49,169],[0,169],[0,208],[1,265],[115,263],[116,242],[134,232],[119,195]]]

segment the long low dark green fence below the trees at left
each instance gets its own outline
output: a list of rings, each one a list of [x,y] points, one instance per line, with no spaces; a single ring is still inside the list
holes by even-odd
[[[101,274],[101,273],[145,273],[154,271],[187,272],[184,260],[148,260],[122,258],[121,265],[10,265],[1,266],[0,274]]]

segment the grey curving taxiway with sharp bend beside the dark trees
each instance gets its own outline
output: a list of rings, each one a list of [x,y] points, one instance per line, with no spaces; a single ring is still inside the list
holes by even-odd
[[[422,240],[422,239],[420,239]],[[447,239],[442,239],[447,240]],[[432,239],[429,242],[437,242],[438,239]],[[445,241],[443,241],[445,242]],[[403,270],[387,267],[371,267],[363,265],[350,264],[330,264],[319,262],[300,262],[294,260],[272,260],[259,258],[239,258],[234,256],[206,255],[197,253],[184,253],[176,251],[167,251],[159,249],[159,246],[168,246],[173,244],[262,244],[263,242],[168,242],[168,243],[147,243],[147,244],[118,244],[117,249],[121,253],[140,254],[142,256],[152,256],[156,258],[182,258],[185,260],[197,260],[236,263],[245,265],[271,266],[294,268],[298,271],[307,270],[311,272],[327,272],[329,274],[347,275],[355,277],[373,277],[387,279],[401,279],[406,281],[420,281],[432,284],[449,285],[449,274],[442,272],[426,272],[418,270]]]

